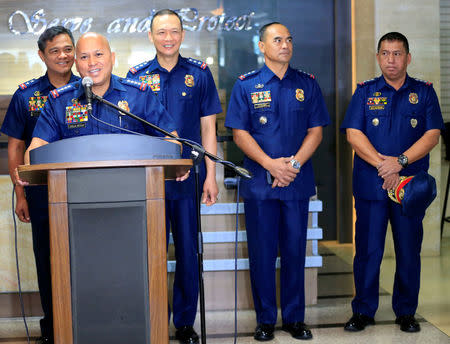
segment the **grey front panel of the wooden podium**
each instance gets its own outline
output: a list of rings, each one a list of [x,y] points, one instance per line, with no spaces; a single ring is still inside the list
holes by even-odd
[[[144,168],[67,173],[74,344],[150,343],[142,185]]]

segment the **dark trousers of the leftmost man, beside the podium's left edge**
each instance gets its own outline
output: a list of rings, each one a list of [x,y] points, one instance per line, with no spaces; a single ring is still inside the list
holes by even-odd
[[[50,238],[48,192],[45,186],[25,188],[33,235],[33,251],[44,318],[40,321],[43,336],[53,338],[52,281],[50,273]]]

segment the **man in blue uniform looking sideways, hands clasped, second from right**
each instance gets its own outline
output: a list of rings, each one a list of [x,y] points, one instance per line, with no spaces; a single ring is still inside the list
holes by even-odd
[[[283,330],[296,339],[310,339],[304,323],[308,204],[315,194],[310,158],[330,120],[314,77],[289,66],[289,30],[276,22],[263,26],[259,49],[265,66],[239,77],[225,121],[245,153],[244,167],[253,173],[241,182],[258,322],[254,338],[274,338],[279,247]]]

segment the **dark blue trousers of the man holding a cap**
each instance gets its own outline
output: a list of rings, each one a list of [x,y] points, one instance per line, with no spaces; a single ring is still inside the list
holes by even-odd
[[[415,314],[420,287],[422,216],[408,217],[393,201],[355,199],[356,255],[353,261],[356,296],[354,313],[373,317],[378,308],[380,264],[383,258],[388,220],[394,239],[396,270],[392,308],[397,317]]]

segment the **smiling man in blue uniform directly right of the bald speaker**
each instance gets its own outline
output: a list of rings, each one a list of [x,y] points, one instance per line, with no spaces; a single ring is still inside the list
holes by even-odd
[[[201,143],[216,154],[216,114],[222,112],[216,86],[204,62],[180,55],[185,31],[177,13],[165,9],[152,18],[149,39],[156,57],[130,69],[127,77],[146,82],[174,117],[180,137]],[[183,152],[189,158],[190,150]],[[201,166],[202,202],[217,200],[215,163],[206,158]],[[198,270],[197,218],[194,176],[183,183],[166,182],[167,239],[170,230],[175,244],[176,271],[173,285],[173,323],[181,343],[197,343],[193,329],[197,313]]]

